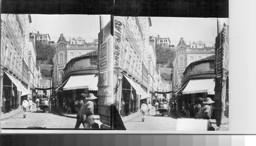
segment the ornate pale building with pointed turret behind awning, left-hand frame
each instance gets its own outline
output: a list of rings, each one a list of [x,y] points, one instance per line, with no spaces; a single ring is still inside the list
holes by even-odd
[[[64,74],[63,69],[71,59],[97,49],[97,41],[87,43],[86,40],[81,37],[67,41],[63,34],[60,34],[55,45],[56,53],[53,58],[53,85],[55,86],[59,83]]]

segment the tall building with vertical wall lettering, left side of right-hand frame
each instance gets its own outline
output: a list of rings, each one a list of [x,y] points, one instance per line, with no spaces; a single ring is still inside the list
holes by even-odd
[[[115,105],[121,114],[137,112],[148,95],[150,17],[114,18]],[[124,103],[124,104],[123,104]],[[127,108],[129,107],[129,108]]]

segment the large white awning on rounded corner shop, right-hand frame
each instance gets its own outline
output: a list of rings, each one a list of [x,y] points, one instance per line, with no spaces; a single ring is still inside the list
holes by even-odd
[[[183,94],[208,93],[214,95],[215,81],[211,79],[191,79],[182,91]]]

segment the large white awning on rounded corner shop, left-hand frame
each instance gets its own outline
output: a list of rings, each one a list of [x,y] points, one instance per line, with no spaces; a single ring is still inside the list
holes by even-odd
[[[98,77],[97,77],[98,78]],[[97,81],[95,74],[87,75],[71,75],[63,90],[77,90],[77,89],[97,89]],[[96,86],[95,86],[96,85]]]

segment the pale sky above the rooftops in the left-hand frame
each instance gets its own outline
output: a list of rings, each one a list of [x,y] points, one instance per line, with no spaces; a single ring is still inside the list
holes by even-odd
[[[99,15],[31,15],[30,32],[49,34],[51,41],[58,41],[60,34],[69,38],[82,37],[86,42],[98,39]]]

